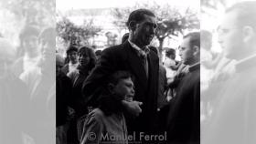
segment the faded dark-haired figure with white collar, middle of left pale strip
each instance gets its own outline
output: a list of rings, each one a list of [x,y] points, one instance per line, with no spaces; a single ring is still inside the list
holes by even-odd
[[[36,26],[25,26],[19,35],[20,47],[19,53],[21,55],[13,66],[13,71],[17,77],[25,70],[37,66],[39,61],[39,47],[37,45],[37,36],[39,29]]]

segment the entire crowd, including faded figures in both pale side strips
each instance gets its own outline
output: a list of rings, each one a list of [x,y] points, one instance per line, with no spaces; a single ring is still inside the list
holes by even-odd
[[[54,27],[25,26],[19,48],[1,37],[0,143],[255,143],[255,9],[227,9],[222,53],[201,30],[164,62],[148,9],[134,10],[122,44],[103,51],[70,45],[63,57]]]

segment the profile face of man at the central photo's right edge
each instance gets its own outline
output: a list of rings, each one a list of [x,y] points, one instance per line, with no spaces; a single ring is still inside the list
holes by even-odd
[[[183,60],[183,63],[190,65],[194,59],[193,50],[189,46],[189,37],[185,38],[181,45],[179,46],[179,56]]]

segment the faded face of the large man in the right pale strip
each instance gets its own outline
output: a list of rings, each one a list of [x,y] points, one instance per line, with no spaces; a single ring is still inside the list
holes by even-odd
[[[219,26],[219,44],[225,57],[236,59],[242,50],[241,28],[237,26],[237,12],[231,11],[224,15]]]

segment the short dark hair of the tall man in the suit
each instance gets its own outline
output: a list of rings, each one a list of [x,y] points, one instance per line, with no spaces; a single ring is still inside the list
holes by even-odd
[[[128,21],[126,22],[126,26],[129,27],[130,23],[132,21],[139,23],[144,20],[144,15],[150,15],[150,16],[155,16],[155,14],[148,10],[148,9],[137,9],[134,10],[128,17]]]

